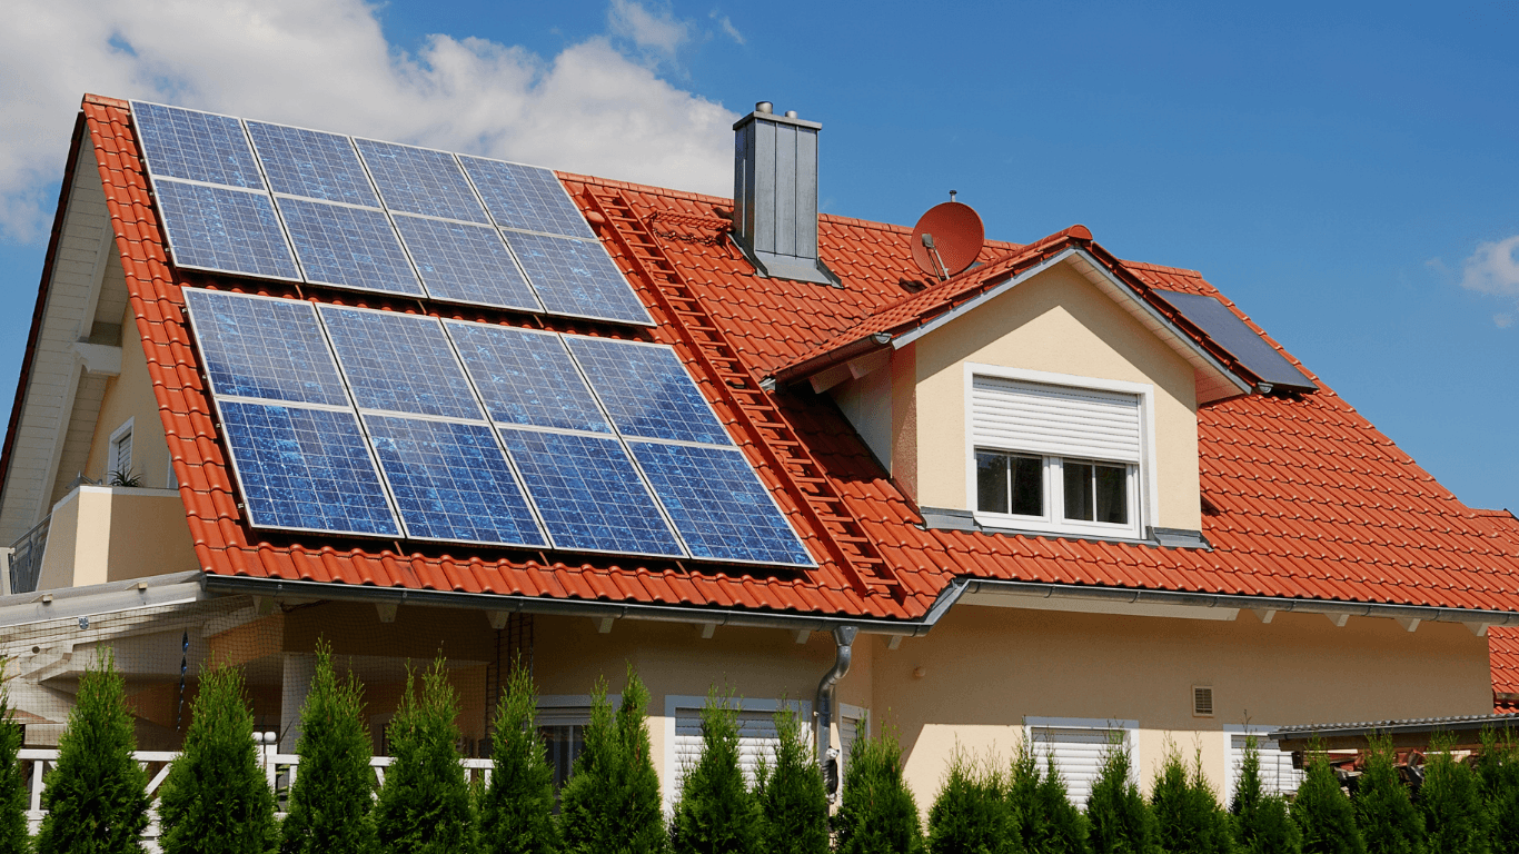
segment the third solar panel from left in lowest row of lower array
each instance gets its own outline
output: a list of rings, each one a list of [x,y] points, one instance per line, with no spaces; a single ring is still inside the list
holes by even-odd
[[[554,547],[682,556],[617,439],[501,430]]]

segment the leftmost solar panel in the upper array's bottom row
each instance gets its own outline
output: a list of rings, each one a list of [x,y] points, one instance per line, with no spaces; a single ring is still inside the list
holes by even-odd
[[[155,181],[175,264],[266,278],[301,278],[264,193]]]

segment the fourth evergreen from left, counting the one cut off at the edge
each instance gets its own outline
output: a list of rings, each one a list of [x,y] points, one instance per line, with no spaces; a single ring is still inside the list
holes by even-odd
[[[333,647],[316,643],[316,673],[301,707],[301,772],[290,787],[284,854],[371,854],[377,849],[372,749],[365,690],[351,672],[339,679]]]

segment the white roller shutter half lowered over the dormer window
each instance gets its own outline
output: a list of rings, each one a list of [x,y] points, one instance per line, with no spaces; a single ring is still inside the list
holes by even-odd
[[[980,448],[1139,462],[1139,397],[998,377],[971,383],[971,435]]]

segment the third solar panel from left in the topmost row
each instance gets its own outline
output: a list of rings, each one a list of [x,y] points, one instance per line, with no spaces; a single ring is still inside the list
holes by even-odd
[[[354,143],[365,155],[369,175],[374,176],[380,196],[392,211],[491,222],[469,188],[465,173],[454,163],[454,155],[374,140],[354,140]]]

